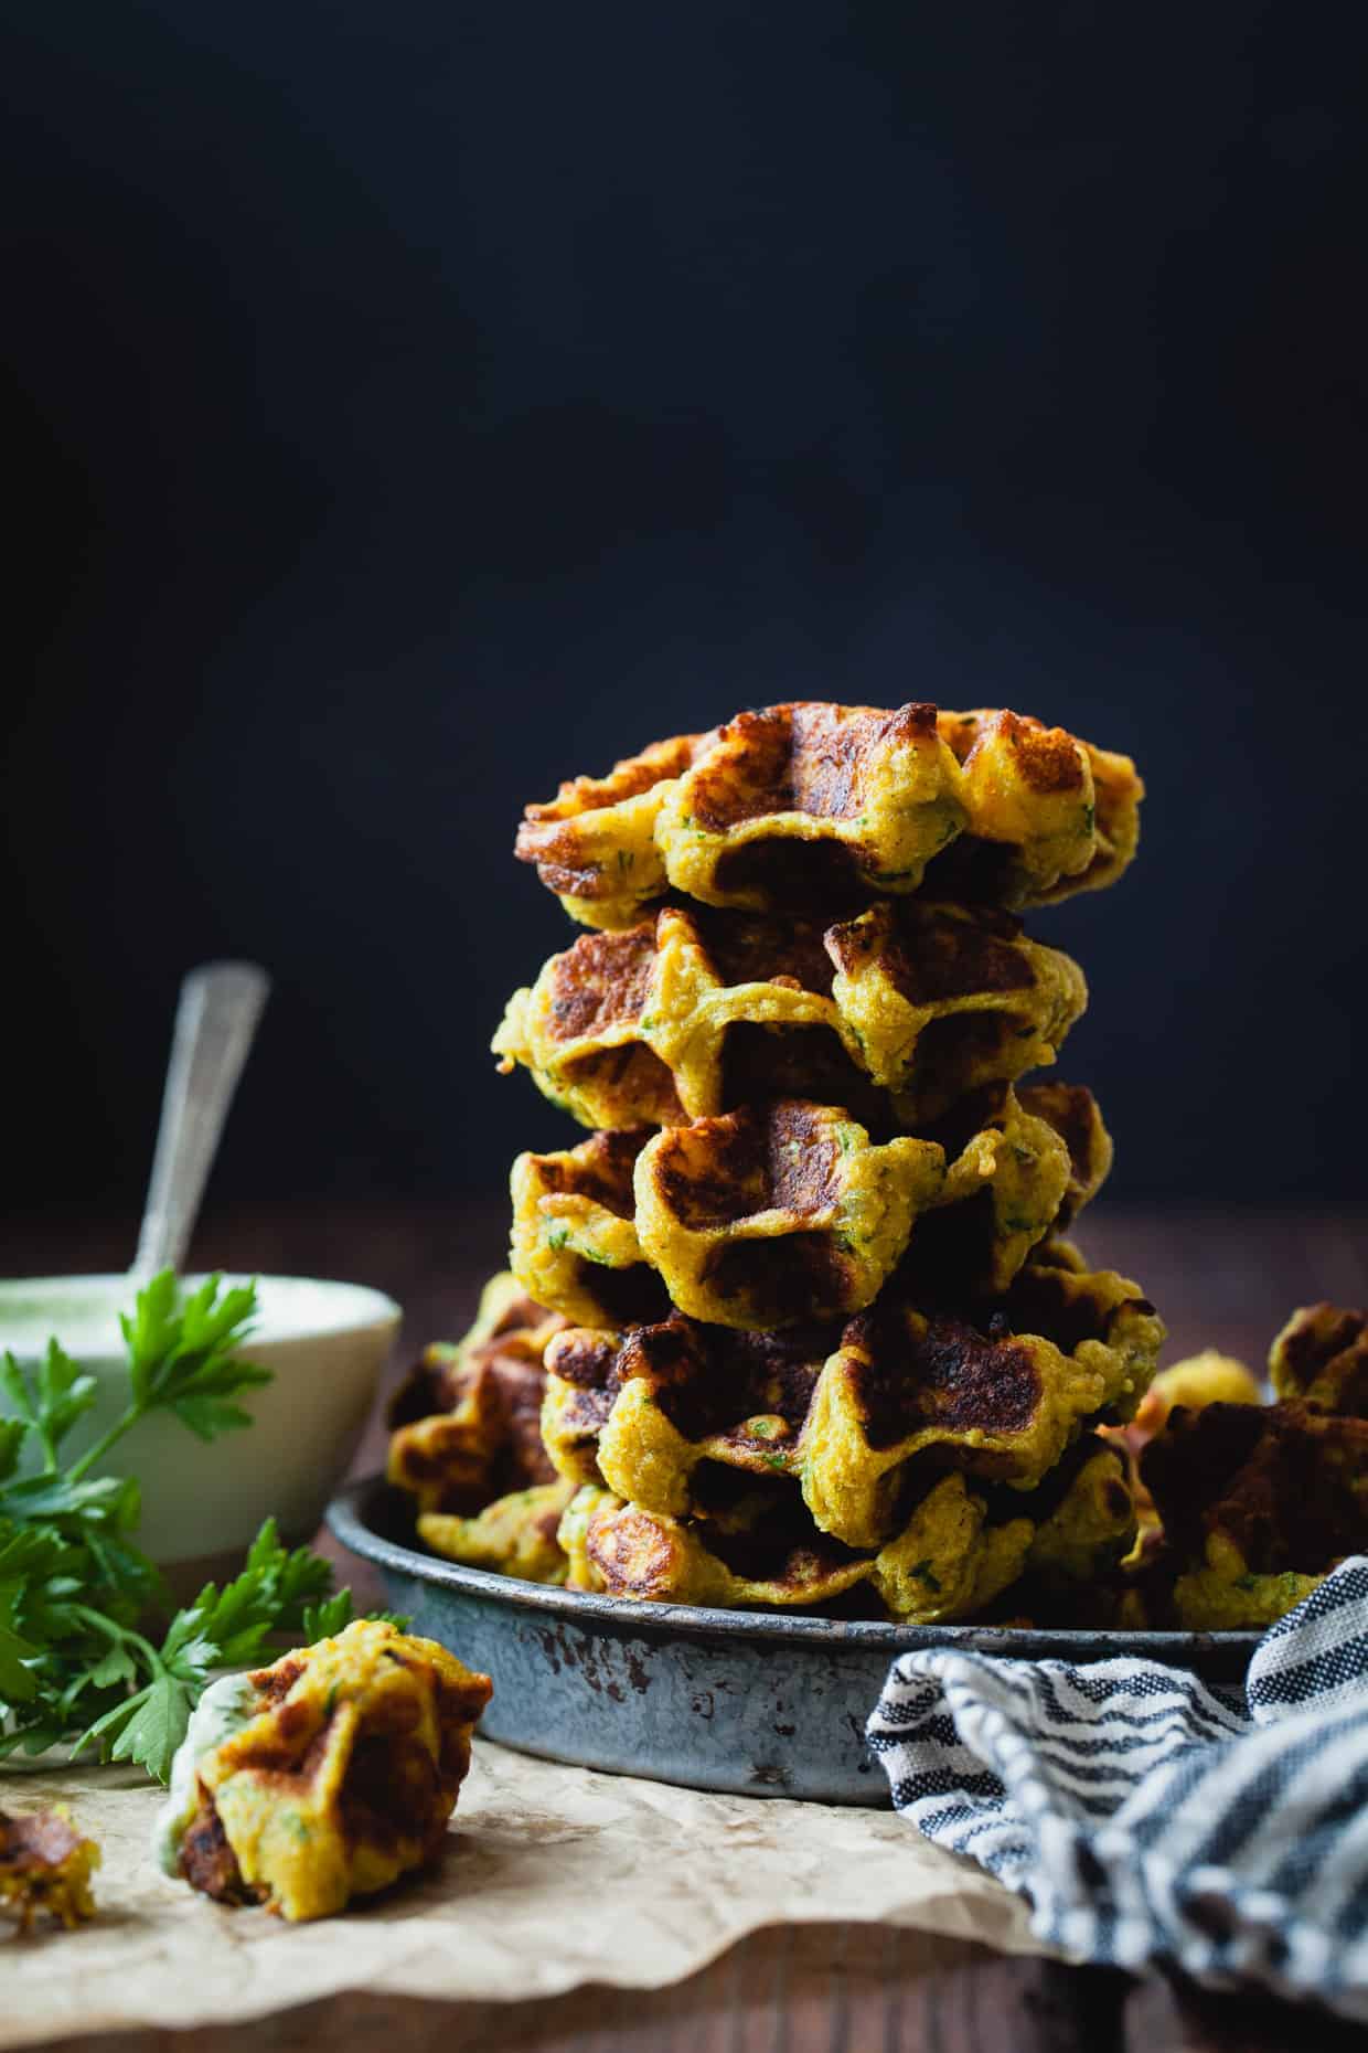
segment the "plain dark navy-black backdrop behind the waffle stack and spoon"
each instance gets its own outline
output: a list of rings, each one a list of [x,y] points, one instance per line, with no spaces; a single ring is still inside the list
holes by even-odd
[[[4,21],[8,1209],[135,1209],[228,953],[219,1195],[494,1187],[519,807],[792,696],[1132,751],[1114,1189],[1362,1195],[1362,10]]]

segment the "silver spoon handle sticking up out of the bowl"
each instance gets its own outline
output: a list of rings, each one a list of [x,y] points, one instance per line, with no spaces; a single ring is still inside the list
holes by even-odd
[[[180,985],[133,1275],[185,1261],[269,992],[271,977],[256,963],[205,963]]]

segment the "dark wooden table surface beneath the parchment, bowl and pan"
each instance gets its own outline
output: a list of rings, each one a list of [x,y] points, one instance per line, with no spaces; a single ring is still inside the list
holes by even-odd
[[[1286,1314],[1317,1297],[1368,1300],[1368,1213],[1089,1211],[1099,1267],[1138,1277],[1169,1322],[1169,1359],[1214,1345],[1261,1363]],[[8,1275],[119,1269],[131,1222],[33,1217],[4,1232]],[[502,1205],[299,1203],[205,1219],[199,1267],[332,1275],[404,1306],[404,1341],[455,1337],[500,1267]],[[398,1365],[396,1365],[398,1367]],[[371,1429],[359,1468],[379,1462]],[[347,1568],[359,1581],[355,1562]],[[550,1936],[548,1936],[550,1942]],[[1259,1998],[1212,1998],[1165,1979],[1015,1961],[962,1940],[841,1924],[759,1932],[654,1996],[576,1989],[531,2004],[338,1998],[242,2028],[117,2032],[100,2053],[1337,2053],[1366,2035]],[[78,2041],[68,2041],[78,2045]]]

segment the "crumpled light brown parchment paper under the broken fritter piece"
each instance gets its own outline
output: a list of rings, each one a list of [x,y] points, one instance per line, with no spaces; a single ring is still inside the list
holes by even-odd
[[[0,1805],[72,1805],[100,1842],[100,1915],[29,1940],[0,1922],[0,2049],[230,2024],[371,1989],[519,2000],[665,1987],[761,1926],[870,1920],[1042,1952],[1021,1901],[892,1811],[708,1796],[476,1743],[439,1870],[345,1918],[219,1909],[156,1868],[142,1774],[0,1774]]]

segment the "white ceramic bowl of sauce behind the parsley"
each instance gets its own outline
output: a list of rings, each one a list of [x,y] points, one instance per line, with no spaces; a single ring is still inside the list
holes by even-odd
[[[226,1277],[246,1283],[248,1277]],[[203,1277],[187,1277],[187,1289]],[[55,1334],[100,1382],[100,1396],[64,1443],[74,1460],[113,1425],[127,1398],[119,1312],[133,1308],[125,1275],[0,1281],[0,1349],[33,1367]],[[306,1540],[355,1454],[400,1324],[400,1308],[361,1283],[256,1277],[246,1361],[273,1371],[236,1402],[252,1425],[205,1443],[170,1412],[142,1419],[111,1449],[105,1474],[142,1482],[139,1546],[185,1587],[203,1564],[240,1556],[267,1517]],[[0,1400],[0,1408],[2,1400]]]

